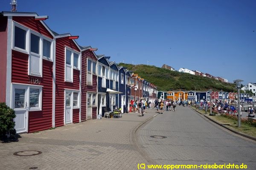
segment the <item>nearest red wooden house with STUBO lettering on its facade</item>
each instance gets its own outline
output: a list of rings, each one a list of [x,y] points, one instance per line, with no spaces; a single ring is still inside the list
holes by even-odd
[[[0,14],[0,102],[15,110],[17,133],[52,127],[54,34],[36,13]]]

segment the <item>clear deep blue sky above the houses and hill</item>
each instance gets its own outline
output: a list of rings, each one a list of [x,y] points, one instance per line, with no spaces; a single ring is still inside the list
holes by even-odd
[[[10,10],[0,1],[0,11]],[[111,61],[189,68],[256,82],[255,0],[17,0],[48,15],[59,34],[79,35]],[[255,32],[253,32],[255,31]]]

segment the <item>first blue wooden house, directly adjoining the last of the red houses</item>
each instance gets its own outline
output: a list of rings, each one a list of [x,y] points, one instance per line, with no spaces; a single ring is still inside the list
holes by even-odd
[[[109,107],[109,93],[107,89],[110,88],[110,63],[105,55],[97,55],[98,58],[98,114],[104,116],[105,108]]]

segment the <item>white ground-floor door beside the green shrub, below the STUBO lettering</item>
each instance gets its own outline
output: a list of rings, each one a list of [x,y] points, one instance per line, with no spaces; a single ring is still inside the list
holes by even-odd
[[[16,117],[14,118],[17,133],[27,132],[28,126],[28,86],[13,85],[12,101]]]

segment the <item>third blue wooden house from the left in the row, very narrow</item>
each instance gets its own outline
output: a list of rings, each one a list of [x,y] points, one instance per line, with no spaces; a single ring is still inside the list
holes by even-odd
[[[119,69],[119,92],[121,92],[118,95],[118,106],[119,108],[122,108],[122,113],[125,113],[127,111],[126,108],[126,94],[125,94],[125,88],[126,88],[126,72],[125,69],[122,66],[118,67]]]

